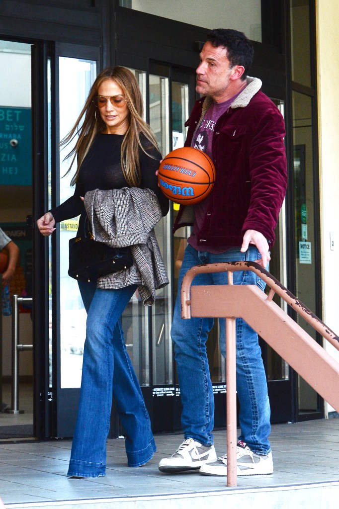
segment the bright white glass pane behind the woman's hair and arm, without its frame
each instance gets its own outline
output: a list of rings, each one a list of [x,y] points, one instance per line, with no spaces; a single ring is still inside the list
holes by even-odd
[[[73,127],[96,77],[96,63],[75,58],[59,58],[60,90],[60,139]],[[75,143],[75,142],[74,142]],[[63,203],[72,196],[70,181],[75,173],[64,177],[70,161],[64,161],[72,146],[60,152],[59,201]],[[83,344],[86,336],[86,310],[80,297],[77,282],[68,275],[68,243],[75,237],[78,218],[60,223],[60,358],[61,387],[80,387]],[[66,254],[67,253],[67,254]]]

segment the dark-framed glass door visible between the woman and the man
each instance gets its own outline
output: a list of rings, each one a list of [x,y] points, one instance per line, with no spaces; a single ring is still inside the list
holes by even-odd
[[[194,72],[152,63],[149,76],[149,122],[163,156],[184,145],[184,124],[195,99],[194,89]],[[180,237],[173,237],[172,224],[178,210],[179,206],[171,202],[170,212],[159,221],[155,229],[170,279],[170,285],[158,292],[151,310],[155,432],[170,431],[180,426],[180,398],[173,359],[171,324],[180,253],[185,247],[188,229],[180,232]]]

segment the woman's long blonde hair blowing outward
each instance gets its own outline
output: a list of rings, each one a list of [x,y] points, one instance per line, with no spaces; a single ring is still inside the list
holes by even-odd
[[[127,183],[130,186],[138,186],[141,181],[139,148],[147,153],[140,143],[140,133],[144,134],[151,146],[158,148],[158,145],[151,128],[143,120],[144,105],[138,82],[129,69],[121,66],[107,67],[98,74],[74,127],[61,141],[61,147],[68,145],[78,135],[73,150],[65,158],[68,159],[73,156],[66,175],[70,172],[77,158],[76,173],[71,180],[71,184],[74,185],[78,178],[80,166],[88,154],[96,135],[105,129],[105,123],[101,116],[98,115],[99,111],[92,101],[98,95],[101,83],[106,79],[113,79],[122,89],[127,99],[129,127],[121,146],[121,166]],[[81,123],[82,118],[83,122]]]

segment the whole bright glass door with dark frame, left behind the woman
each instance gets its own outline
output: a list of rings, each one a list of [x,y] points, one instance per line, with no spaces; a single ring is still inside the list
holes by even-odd
[[[57,44],[55,55],[56,140],[70,131],[87,99],[97,75],[99,50]],[[74,142],[74,140],[73,140]],[[75,143],[75,142],[74,142]],[[70,161],[65,159],[72,145],[56,150],[55,168],[49,187],[52,206],[65,202],[73,193],[70,181],[75,166],[65,176]],[[49,237],[53,271],[50,272],[50,344],[53,399],[56,403],[55,436],[71,437],[77,414],[81,383],[82,354],[87,314],[77,282],[68,276],[69,240],[75,237],[78,217],[62,221],[56,235]],[[56,398],[55,398],[56,393]]]

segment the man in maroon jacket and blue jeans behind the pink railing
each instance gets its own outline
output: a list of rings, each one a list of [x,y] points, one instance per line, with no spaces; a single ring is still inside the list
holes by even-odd
[[[216,29],[207,34],[196,69],[195,103],[187,121],[186,146],[204,150],[214,161],[211,195],[194,207],[192,234],[182,262],[179,285],[195,265],[256,261],[267,267],[274,229],[287,187],[284,120],[261,91],[261,81],[247,76],[253,48],[244,34]],[[181,207],[175,224],[190,222],[192,207]],[[220,285],[225,273],[201,274],[194,285]],[[253,272],[234,272],[234,284],[264,282]],[[214,400],[206,353],[211,318],[181,319],[180,293],[175,305],[172,340],[181,393],[184,442],[162,472],[200,470],[227,475],[227,457],[216,459],[213,446]],[[220,349],[225,355],[225,320],[220,320]],[[268,440],[270,406],[258,335],[236,321],[237,393],[241,435],[238,475],[273,473]]]

